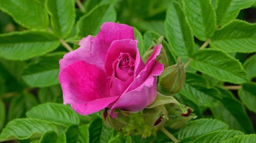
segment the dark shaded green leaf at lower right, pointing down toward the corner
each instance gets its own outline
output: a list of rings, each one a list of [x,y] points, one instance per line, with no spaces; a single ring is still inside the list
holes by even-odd
[[[219,104],[210,108],[214,117],[227,123],[230,129],[252,133],[252,123],[244,106],[228,90],[220,88],[218,90],[221,92],[223,99]]]

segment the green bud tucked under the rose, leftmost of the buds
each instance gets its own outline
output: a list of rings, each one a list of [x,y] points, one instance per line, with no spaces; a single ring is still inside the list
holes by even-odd
[[[108,109],[105,109],[104,111],[102,111],[101,118],[106,126],[114,130],[122,130],[122,128],[125,127],[130,121],[129,117],[124,116],[121,113],[119,113],[116,119],[113,119],[110,116]]]

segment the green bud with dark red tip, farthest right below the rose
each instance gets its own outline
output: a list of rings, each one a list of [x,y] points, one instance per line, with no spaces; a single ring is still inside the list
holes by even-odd
[[[168,111],[169,120],[165,122],[165,125],[171,129],[180,129],[191,119],[197,118],[194,113],[191,113],[194,111],[192,108],[182,104],[167,106],[166,109]]]

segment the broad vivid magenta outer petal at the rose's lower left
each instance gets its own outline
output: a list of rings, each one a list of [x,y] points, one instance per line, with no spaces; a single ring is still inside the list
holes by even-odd
[[[110,97],[107,77],[103,70],[84,61],[76,61],[66,66],[59,73],[64,104],[70,103],[76,110],[79,108],[76,105],[81,105],[79,111],[83,111],[83,114],[108,106],[116,98]],[[97,100],[104,104],[98,102],[99,107],[95,108]]]

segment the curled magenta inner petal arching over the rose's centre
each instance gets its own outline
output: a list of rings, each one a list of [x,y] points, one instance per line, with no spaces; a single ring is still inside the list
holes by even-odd
[[[135,59],[137,48],[137,40],[123,39],[113,41],[108,52],[106,53],[105,70],[106,73],[111,76],[113,73],[113,63],[119,57],[120,53],[129,52]],[[135,59],[136,60],[136,59]],[[136,62],[136,61],[135,61]]]

